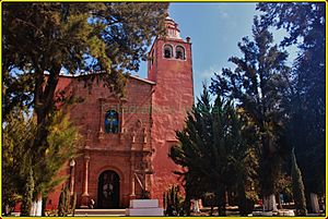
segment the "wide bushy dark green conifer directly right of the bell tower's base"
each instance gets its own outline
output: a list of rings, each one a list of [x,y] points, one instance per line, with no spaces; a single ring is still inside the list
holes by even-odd
[[[214,105],[210,104],[204,86],[197,106],[188,114],[186,127],[176,133],[180,144],[169,151],[174,162],[185,169],[179,174],[185,180],[186,199],[213,192],[220,216],[225,215],[227,187],[235,185],[239,195],[246,196],[244,185],[249,177],[246,160],[250,150],[242,136],[242,124],[230,101],[216,97]]]

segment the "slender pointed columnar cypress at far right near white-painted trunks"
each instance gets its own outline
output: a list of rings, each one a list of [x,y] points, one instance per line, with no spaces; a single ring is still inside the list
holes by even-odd
[[[306,216],[306,200],[301,170],[296,162],[294,148],[292,150],[292,187],[296,208],[296,216]]]

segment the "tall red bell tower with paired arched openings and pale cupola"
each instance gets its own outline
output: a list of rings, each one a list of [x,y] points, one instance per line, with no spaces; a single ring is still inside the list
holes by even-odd
[[[152,197],[162,200],[163,192],[177,184],[173,171],[178,170],[168,151],[178,144],[175,131],[185,125],[187,111],[194,104],[191,42],[180,37],[178,24],[167,16],[166,35],[159,36],[148,61],[148,80],[155,82],[152,94],[152,147],[154,148]]]

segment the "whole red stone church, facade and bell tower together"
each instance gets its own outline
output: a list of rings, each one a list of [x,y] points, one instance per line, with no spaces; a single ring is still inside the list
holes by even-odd
[[[67,184],[78,194],[78,207],[93,199],[95,208],[124,208],[142,191],[161,200],[177,183],[177,166],[167,154],[194,104],[191,44],[179,37],[171,17],[165,23],[167,35],[157,37],[149,52],[148,78],[130,76],[124,98],[101,80],[91,88],[79,77],[59,80],[58,92],[83,100],[69,109],[85,139],[82,155],[61,172],[70,175]],[[49,196],[52,206],[59,193],[60,187]]]

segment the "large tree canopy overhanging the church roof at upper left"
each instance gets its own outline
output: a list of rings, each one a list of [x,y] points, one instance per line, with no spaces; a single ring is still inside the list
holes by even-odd
[[[47,105],[49,96],[50,101],[60,70],[104,71],[107,85],[121,92],[122,71],[139,69],[152,37],[164,31],[166,9],[166,3],[4,3],[8,83],[12,70],[31,73],[32,90],[39,95],[34,105]],[[48,82],[44,72],[50,75]]]

